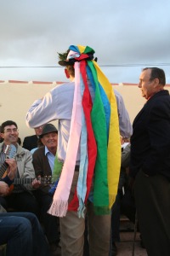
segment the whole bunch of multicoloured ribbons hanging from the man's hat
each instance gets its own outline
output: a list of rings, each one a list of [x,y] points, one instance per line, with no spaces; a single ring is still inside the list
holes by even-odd
[[[96,213],[107,214],[116,198],[121,165],[116,97],[105,74],[93,61],[94,49],[82,45],[71,45],[69,49],[67,59],[75,62],[71,133],[59,184],[48,212],[62,217],[67,210],[78,211],[79,217],[83,217],[94,182]],[[94,90],[93,101],[88,84]],[[77,135],[74,131],[77,131]],[[81,162],[77,191],[68,206],[79,143]]]

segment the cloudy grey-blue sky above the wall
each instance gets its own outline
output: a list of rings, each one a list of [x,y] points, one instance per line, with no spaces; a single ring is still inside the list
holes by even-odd
[[[169,12],[169,0],[0,0],[0,80],[64,81],[57,52],[82,44],[111,83],[154,66],[170,84]]]

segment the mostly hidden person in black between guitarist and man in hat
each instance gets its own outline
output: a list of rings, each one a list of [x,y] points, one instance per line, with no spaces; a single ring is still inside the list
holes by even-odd
[[[42,134],[42,128],[43,128],[43,125],[35,128],[34,129],[34,131],[36,133],[35,135],[27,136],[27,137],[24,138],[23,148],[26,148],[30,151],[33,148],[37,148],[38,138]]]

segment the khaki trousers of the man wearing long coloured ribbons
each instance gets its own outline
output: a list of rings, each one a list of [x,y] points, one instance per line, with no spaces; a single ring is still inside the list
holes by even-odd
[[[78,172],[75,172],[69,201],[77,186]],[[88,201],[88,242],[90,256],[108,256],[110,250],[111,215],[95,215],[94,205]],[[77,212],[67,212],[59,219],[61,255],[82,256],[84,245],[85,218],[78,218]]]

